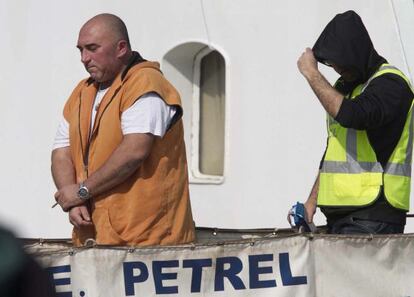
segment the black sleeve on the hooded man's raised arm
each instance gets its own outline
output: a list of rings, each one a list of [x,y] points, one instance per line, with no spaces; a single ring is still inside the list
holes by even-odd
[[[403,78],[387,73],[373,79],[353,100],[344,99],[335,120],[358,130],[386,125],[408,111],[413,94]],[[408,108],[407,108],[408,107]]]

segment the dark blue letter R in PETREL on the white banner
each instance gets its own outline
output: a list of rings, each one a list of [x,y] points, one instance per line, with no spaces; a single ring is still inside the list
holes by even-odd
[[[224,269],[224,264],[230,264],[228,269]],[[217,258],[216,261],[216,275],[214,279],[214,290],[224,291],[224,278],[226,277],[233,288],[236,290],[244,290],[244,286],[240,277],[237,276],[243,269],[242,261],[237,257],[223,257]]]

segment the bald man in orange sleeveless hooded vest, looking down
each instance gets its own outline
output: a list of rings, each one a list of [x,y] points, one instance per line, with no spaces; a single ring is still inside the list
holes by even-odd
[[[75,245],[194,240],[177,90],[131,50],[124,22],[87,21],[77,48],[89,77],[67,100],[52,151],[56,202]]]

